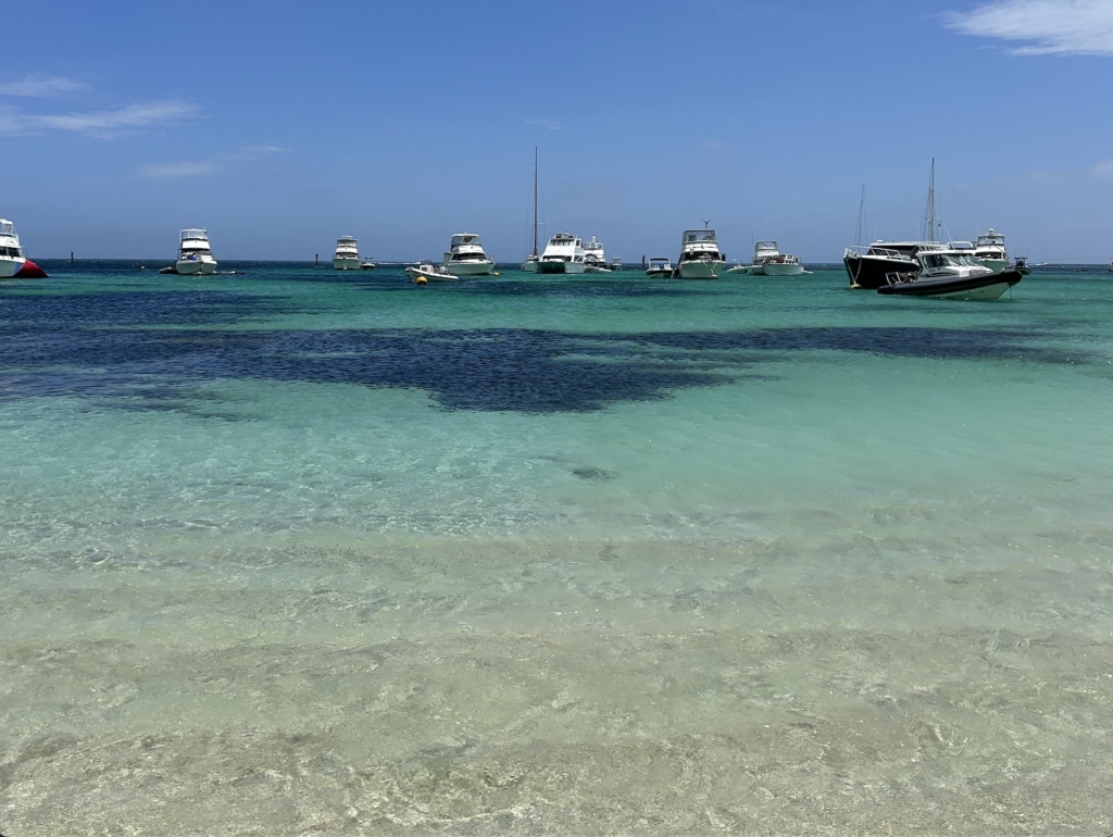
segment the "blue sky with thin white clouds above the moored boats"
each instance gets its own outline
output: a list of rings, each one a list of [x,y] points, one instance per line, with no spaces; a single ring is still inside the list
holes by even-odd
[[[0,216],[31,258],[501,262],[918,237],[1113,256],[1113,0],[53,2],[6,9]],[[543,242],[542,242],[543,246]]]

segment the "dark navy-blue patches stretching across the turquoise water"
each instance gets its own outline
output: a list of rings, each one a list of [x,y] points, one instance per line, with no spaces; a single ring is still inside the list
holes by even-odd
[[[768,380],[768,370],[759,375],[755,363],[802,351],[1052,364],[1087,360],[1077,349],[1035,343],[1045,333],[1018,329],[583,334],[223,327],[287,311],[301,308],[283,297],[219,291],[0,295],[0,398],[75,395],[108,398],[127,410],[176,410],[196,401],[197,382],[254,378],[412,387],[450,410],[555,413]]]

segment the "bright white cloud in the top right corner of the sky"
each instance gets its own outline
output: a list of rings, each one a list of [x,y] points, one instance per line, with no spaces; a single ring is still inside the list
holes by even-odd
[[[944,21],[963,35],[1027,41],[1015,56],[1113,56],[1113,0],[1004,0]]]

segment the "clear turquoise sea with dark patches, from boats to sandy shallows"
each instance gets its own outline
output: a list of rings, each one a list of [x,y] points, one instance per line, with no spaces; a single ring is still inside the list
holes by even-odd
[[[1104,268],[43,266],[0,286],[0,831],[1113,817]]]

